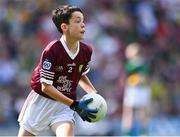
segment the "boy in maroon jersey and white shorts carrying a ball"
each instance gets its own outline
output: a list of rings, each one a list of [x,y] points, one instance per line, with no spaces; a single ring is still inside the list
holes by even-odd
[[[53,10],[52,20],[62,37],[46,46],[32,74],[32,91],[18,118],[19,137],[38,135],[48,127],[56,136],[73,136],[74,112],[89,122],[97,112],[87,108],[92,99],[76,100],[78,84],[87,93],[96,93],[86,76],[92,49],[80,42],[85,33],[83,13],[64,5]]]

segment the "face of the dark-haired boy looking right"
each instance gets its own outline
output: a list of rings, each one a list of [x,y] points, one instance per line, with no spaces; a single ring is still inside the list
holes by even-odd
[[[85,24],[83,14],[79,11],[72,13],[69,20],[67,33],[76,40],[82,40],[85,33]]]

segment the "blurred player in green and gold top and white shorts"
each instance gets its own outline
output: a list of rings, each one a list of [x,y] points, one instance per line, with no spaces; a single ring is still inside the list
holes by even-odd
[[[149,62],[143,58],[138,42],[126,48],[127,80],[122,112],[123,135],[147,135],[151,88],[148,84]]]

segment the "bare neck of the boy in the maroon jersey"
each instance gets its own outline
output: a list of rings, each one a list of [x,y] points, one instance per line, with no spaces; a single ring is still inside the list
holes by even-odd
[[[75,53],[76,50],[77,50],[77,46],[78,46],[78,42],[79,42],[79,41],[78,41],[78,40],[73,40],[73,39],[71,39],[71,38],[69,38],[69,37],[66,37],[65,35],[63,35],[63,39],[64,39],[64,41],[65,41],[68,49],[69,49],[71,52]]]

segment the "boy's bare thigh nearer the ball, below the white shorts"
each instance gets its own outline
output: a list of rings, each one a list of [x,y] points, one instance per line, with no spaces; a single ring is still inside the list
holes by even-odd
[[[72,122],[58,122],[51,126],[57,137],[74,136],[74,124]]]

